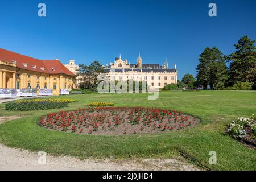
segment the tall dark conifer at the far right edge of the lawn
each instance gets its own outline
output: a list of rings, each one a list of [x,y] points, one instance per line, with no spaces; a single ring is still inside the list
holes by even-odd
[[[229,55],[230,61],[230,85],[236,82],[250,82],[256,89],[256,51],[255,40],[247,35],[234,44],[236,52]]]

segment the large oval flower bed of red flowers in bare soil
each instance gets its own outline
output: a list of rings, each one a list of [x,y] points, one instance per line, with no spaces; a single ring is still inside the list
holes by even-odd
[[[61,111],[41,117],[52,130],[94,135],[163,133],[194,127],[200,120],[176,110],[143,107],[94,107]]]

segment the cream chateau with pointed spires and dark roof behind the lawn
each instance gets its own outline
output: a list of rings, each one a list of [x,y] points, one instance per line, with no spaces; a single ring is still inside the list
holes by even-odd
[[[151,89],[162,89],[168,84],[177,84],[177,68],[168,68],[168,60],[164,65],[159,64],[142,64],[141,55],[139,54],[137,64],[129,64],[123,60],[121,55],[116,58],[114,63],[104,68],[109,80],[117,81],[147,81]]]

